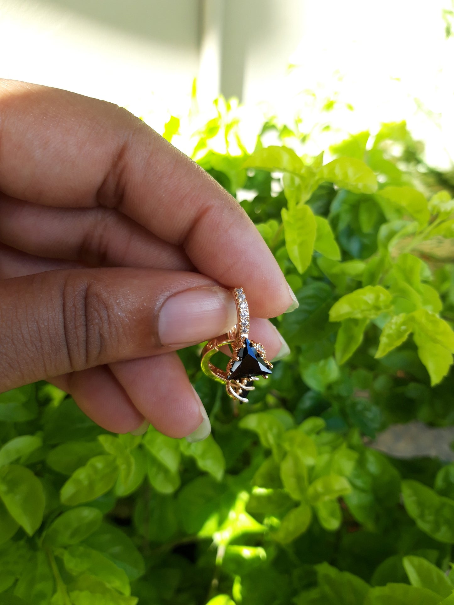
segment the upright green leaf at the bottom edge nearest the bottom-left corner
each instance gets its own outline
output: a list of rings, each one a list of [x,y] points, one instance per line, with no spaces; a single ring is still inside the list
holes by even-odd
[[[33,605],[48,605],[53,594],[54,578],[47,557],[38,551],[19,578],[14,594]]]

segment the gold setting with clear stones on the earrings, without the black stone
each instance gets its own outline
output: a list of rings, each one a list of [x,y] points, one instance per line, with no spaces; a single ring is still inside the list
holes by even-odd
[[[268,373],[271,373],[272,364],[269,361],[266,361],[265,347],[263,347],[260,342],[249,340],[249,306],[243,288],[235,288],[232,290],[232,293],[237,307],[237,323],[228,331],[228,333],[226,333],[226,335],[214,338],[205,345],[202,351],[201,366],[203,372],[207,376],[213,378],[217,382],[225,384],[226,392],[229,397],[237,399],[240,403],[247,403],[248,399],[245,395],[247,395],[248,391],[254,390],[255,387],[253,382],[257,381],[258,377],[252,374],[249,376],[242,376],[239,379],[229,378],[235,361],[240,361],[240,351],[242,348],[246,347],[246,339],[249,343],[248,346],[251,345],[258,353],[258,356],[255,355],[255,357],[257,359],[260,358],[259,361],[265,366],[263,372],[267,371]],[[229,360],[226,369],[220,370],[220,368],[211,363],[210,359],[220,350],[220,348],[225,347],[226,345],[231,348],[231,359]],[[246,351],[247,350],[250,349],[246,349]],[[268,374],[261,373],[260,375],[263,375],[263,378],[268,378]]]

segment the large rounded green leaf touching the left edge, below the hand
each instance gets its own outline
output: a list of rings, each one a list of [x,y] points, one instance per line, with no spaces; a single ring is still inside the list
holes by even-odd
[[[25,466],[2,466],[0,499],[13,519],[33,535],[44,514],[44,490],[39,479]]]

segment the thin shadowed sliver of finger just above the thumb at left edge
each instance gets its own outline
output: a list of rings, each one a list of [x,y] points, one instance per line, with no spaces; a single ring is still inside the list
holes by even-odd
[[[22,277],[53,271],[55,269],[82,269],[83,266],[71,261],[54,260],[50,258],[35,257],[0,244],[0,280],[12,277]]]

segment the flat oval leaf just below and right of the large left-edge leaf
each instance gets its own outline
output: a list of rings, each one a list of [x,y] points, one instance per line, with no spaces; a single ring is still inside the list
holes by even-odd
[[[102,522],[102,512],[91,506],[77,506],[62,512],[47,528],[44,543],[49,546],[70,546],[88,538]]]

